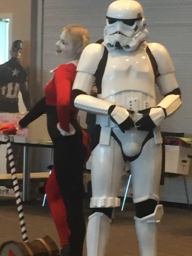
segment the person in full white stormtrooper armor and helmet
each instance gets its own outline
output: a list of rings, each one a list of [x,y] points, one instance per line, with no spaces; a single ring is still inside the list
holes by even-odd
[[[140,255],[156,256],[156,226],[163,215],[158,204],[159,125],[181,105],[180,90],[165,47],[146,42],[145,17],[137,1],[114,1],[106,20],[104,42],[83,51],[72,91],[77,108],[97,115],[99,132],[92,153],[93,212],[87,226],[87,255],[106,253],[111,213],[120,204],[119,181],[124,162],[129,161]],[[98,98],[90,95],[94,84]],[[155,84],[164,97],[159,103]]]

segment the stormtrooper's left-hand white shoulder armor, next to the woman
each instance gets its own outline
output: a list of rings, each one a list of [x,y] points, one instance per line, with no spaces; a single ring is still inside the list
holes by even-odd
[[[78,62],[77,71],[94,75],[102,59],[104,49],[102,44],[87,45]]]

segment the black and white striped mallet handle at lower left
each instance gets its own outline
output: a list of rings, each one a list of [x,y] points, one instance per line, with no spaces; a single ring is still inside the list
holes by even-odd
[[[23,242],[28,242],[27,229],[26,229],[26,225],[25,225],[25,218],[24,218],[24,214],[23,214],[21,196],[20,196],[20,192],[19,192],[19,183],[18,183],[18,179],[17,179],[17,175],[16,175],[16,169],[15,169],[15,163],[14,163],[14,158],[13,158],[13,150],[11,147],[10,136],[6,135],[5,139],[6,139],[6,147],[7,147],[7,159],[8,159],[10,169],[11,169],[13,190],[14,190],[18,214],[19,214],[19,222],[20,222],[20,226],[21,226],[22,239],[23,239]]]

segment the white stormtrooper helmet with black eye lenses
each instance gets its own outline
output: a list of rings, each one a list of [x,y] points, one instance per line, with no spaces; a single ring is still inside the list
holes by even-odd
[[[142,6],[134,0],[117,0],[107,10],[104,44],[108,49],[134,51],[147,39]]]

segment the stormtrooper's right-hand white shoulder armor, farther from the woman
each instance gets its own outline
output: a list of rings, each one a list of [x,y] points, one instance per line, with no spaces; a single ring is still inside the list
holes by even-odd
[[[166,48],[158,43],[148,43],[147,45],[157,62],[159,74],[166,75],[174,72],[174,65]]]

